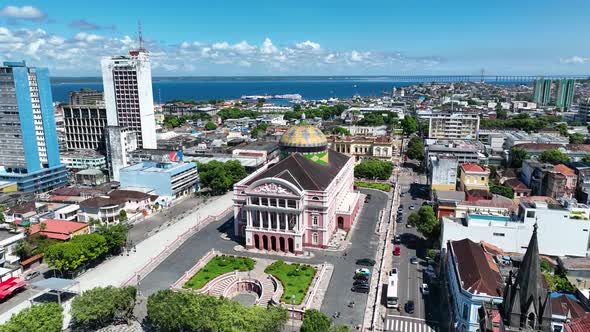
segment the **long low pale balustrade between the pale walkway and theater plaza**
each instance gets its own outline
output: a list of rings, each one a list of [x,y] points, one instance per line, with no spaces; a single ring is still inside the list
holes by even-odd
[[[122,286],[129,286],[134,284],[134,281],[138,281],[143,279],[147,276],[150,272],[152,272],[160,263],[162,263],[170,254],[172,254],[176,249],[178,249],[187,239],[193,236],[199,229],[204,226],[207,226],[212,221],[220,220],[221,218],[225,217],[229,212],[233,211],[233,207],[227,208],[223,212],[219,213],[216,216],[208,216],[207,218],[201,220],[196,225],[187,229],[184,233],[180,234],[174,241],[172,241],[169,245],[164,247],[164,249],[155,257],[151,258],[147,263],[143,265],[139,270],[135,271],[135,273],[125,281]]]

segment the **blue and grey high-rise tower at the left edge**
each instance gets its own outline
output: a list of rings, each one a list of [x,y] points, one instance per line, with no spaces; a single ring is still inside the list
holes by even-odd
[[[0,180],[43,192],[65,184],[46,68],[0,66]]]

